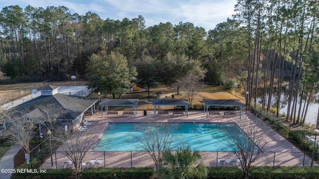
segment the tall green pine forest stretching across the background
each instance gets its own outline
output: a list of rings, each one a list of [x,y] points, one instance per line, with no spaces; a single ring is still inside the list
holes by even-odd
[[[113,20],[71,14],[65,6],[12,5],[0,12],[0,68],[11,78],[100,78],[92,87],[117,79],[104,89],[114,95],[123,91],[111,86],[125,89],[133,79],[149,89],[195,74],[208,85],[242,88],[253,105],[262,93],[262,107],[275,107],[277,115],[286,102],[287,120],[304,123],[319,81],[318,6],[317,0],[237,0],[232,18],[204,29],[189,22],[146,27],[142,15]],[[289,97],[282,101],[284,89]],[[307,105],[297,108],[302,100]]]

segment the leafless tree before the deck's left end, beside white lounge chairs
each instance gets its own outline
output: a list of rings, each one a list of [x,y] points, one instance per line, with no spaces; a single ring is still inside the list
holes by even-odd
[[[93,148],[92,135],[83,135],[76,132],[67,135],[68,140],[61,146],[60,151],[74,164],[76,178],[80,177],[82,160],[89,150]]]

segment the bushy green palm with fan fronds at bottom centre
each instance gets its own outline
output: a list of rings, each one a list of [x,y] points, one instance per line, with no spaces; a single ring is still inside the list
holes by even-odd
[[[178,147],[176,152],[170,149],[163,152],[163,161],[167,167],[160,166],[161,179],[206,179],[208,169],[200,162],[202,156],[190,146]]]

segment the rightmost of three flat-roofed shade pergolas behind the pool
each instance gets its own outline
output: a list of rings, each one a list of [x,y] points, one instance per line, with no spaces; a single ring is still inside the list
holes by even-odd
[[[243,105],[238,99],[203,99],[204,101],[204,113],[206,109],[206,118],[208,117],[208,107],[209,106],[235,106],[237,112],[237,106],[240,107],[240,117],[241,119],[241,108]]]

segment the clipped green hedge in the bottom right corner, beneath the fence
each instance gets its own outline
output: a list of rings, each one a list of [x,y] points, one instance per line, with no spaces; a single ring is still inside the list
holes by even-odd
[[[299,166],[299,167],[254,167],[249,170],[250,178],[253,179],[318,179],[319,167]]]

